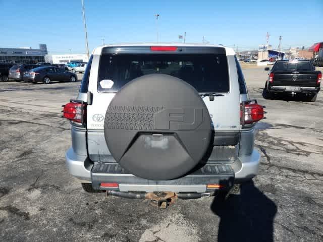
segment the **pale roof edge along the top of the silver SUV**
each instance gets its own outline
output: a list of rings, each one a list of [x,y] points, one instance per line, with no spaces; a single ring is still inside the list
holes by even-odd
[[[235,55],[235,51],[233,48],[229,48],[223,45],[215,45],[215,44],[194,44],[194,43],[120,43],[120,44],[109,44],[109,45],[101,45],[96,47],[92,54],[101,54],[102,48],[104,47],[118,47],[118,46],[178,46],[178,47],[220,47],[225,48],[227,55]]]

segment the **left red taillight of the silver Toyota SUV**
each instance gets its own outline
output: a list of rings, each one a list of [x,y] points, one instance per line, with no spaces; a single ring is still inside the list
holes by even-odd
[[[63,106],[63,117],[83,125],[85,117],[85,104],[83,102],[69,102]]]

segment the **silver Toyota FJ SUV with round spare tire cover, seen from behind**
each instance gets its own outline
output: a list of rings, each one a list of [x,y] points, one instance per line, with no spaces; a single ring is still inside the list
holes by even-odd
[[[63,115],[72,132],[66,164],[87,192],[171,192],[159,200],[165,205],[225,194],[258,173],[254,135],[263,106],[249,99],[232,48],[97,47]]]

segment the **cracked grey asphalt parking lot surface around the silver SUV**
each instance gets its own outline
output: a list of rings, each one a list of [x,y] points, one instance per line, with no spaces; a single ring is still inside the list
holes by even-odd
[[[68,174],[60,112],[80,82],[0,83],[0,241],[323,241],[323,94],[264,100],[266,72],[243,71],[268,112],[257,125],[259,175],[225,204],[178,200],[166,210],[85,193]]]

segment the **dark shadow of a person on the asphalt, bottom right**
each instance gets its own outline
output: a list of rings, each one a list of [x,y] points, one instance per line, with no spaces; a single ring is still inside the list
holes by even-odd
[[[230,194],[226,200],[215,197],[211,210],[221,218],[218,242],[274,241],[277,206],[253,181],[240,185],[240,195]]]

